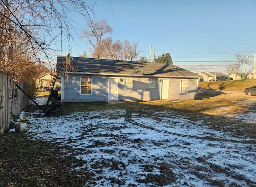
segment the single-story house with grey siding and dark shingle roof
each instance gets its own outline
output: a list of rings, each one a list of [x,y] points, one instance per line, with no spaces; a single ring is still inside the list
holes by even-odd
[[[191,99],[198,89],[200,76],[173,64],[71,59],[57,56],[62,102]]]

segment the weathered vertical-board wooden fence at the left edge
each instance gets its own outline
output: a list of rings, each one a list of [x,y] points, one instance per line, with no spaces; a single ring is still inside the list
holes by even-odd
[[[17,117],[28,104],[28,97],[15,83],[28,92],[28,84],[14,82],[10,76],[0,72],[0,134],[9,128],[10,120]]]

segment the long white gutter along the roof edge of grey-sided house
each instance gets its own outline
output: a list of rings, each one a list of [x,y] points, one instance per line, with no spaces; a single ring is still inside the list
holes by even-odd
[[[98,75],[98,76],[124,76],[124,77],[160,77],[160,78],[201,78],[202,76],[168,76],[168,75],[148,75],[148,74],[108,74],[92,72],[59,72],[63,74],[81,74],[81,75]]]

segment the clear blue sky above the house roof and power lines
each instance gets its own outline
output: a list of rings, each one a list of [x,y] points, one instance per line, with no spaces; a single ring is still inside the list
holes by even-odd
[[[253,68],[256,0],[96,0],[94,15],[93,20],[105,19],[113,27],[113,40],[138,41],[140,56],[149,58],[151,45],[156,56],[170,52],[173,63],[187,70],[226,73],[226,63],[248,52],[247,71]],[[80,36],[86,22],[74,20]],[[90,55],[85,38],[75,42],[72,56]]]

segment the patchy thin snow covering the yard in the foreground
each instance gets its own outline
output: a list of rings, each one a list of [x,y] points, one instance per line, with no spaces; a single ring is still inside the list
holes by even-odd
[[[92,173],[88,186],[256,186],[256,145],[203,121],[126,110],[41,115],[22,111],[27,133],[72,147],[63,151],[87,161],[77,169]]]

